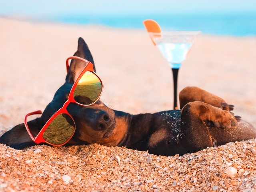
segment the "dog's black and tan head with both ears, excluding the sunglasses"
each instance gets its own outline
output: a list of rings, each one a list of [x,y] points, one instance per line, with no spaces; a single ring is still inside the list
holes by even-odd
[[[78,39],[78,49],[74,56],[84,58],[94,64],[90,50],[82,38]],[[34,136],[39,133],[49,118],[62,108],[68,99],[72,85],[84,67],[84,62],[78,60],[71,61],[66,82],[56,91],[52,102],[46,106],[40,118],[28,122],[28,127]],[[76,124],[74,136],[67,144],[98,143],[105,146],[116,146],[125,138],[124,136],[128,130],[129,115],[108,108],[101,100],[90,106],[70,103],[67,110],[74,118]],[[16,149],[35,144],[28,135],[24,123],[15,126],[2,135],[0,143]]]

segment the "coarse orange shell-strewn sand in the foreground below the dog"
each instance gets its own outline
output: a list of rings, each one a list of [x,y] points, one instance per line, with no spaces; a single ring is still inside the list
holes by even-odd
[[[98,144],[0,144],[0,191],[256,191],[255,150],[256,140],[174,157]]]

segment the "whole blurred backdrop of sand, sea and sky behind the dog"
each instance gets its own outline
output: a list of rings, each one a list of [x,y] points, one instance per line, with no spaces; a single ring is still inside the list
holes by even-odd
[[[201,30],[178,75],[256,124],[255,0],[0,0],[0,134],[44,110],[81,36],[103,80],[101,100],[131,114],[173,108],[172,71],[142,21]]]

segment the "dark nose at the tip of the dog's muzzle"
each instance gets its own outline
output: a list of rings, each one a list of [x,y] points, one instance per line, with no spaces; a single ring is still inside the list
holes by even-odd
[[[95,123],[93,126],[94,130],[103,131],[103,130],[106,130],[110,126],[111,120],[106,111],[100,110],[96,116],[94,123]]]

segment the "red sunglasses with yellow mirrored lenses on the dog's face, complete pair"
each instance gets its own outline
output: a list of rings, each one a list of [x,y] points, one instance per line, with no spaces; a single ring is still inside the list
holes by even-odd
[[[69,60],[77,59],[86,63],[86,66],[74,82],[68,100],[64,103],[52,117],[46,122],[38,135],[34,137],[28,128],[27,118],[30,115],[42,114],[38,110],[31,112],[25,116],[25,127],[31,139],[36,143],[48,143],[53,146],[62,146],[66,144],[74,135],[76,124],[72,116],[66,110],[70,103],[76,103],[81,106],[89,106],[94,104],[102,94],[103,84],[101,79],[96,75],[93,64],[88,60],[77,56],[71,56],[66,60],[66,68],[68,72]]]

